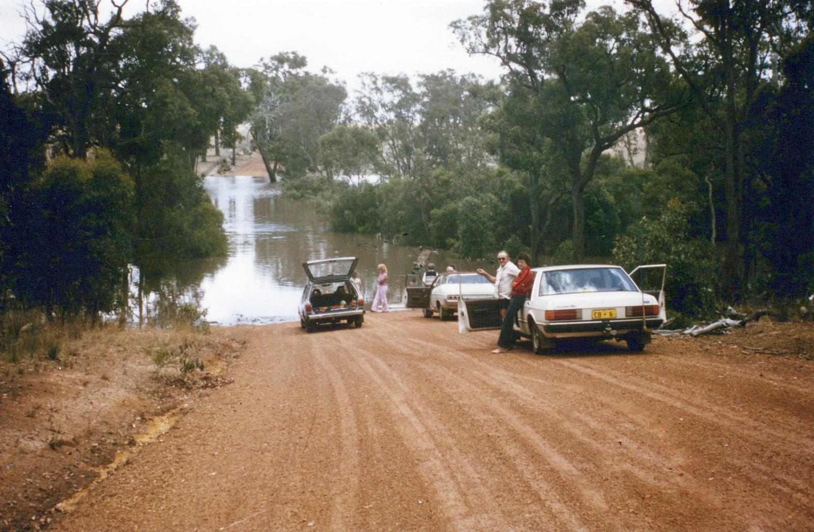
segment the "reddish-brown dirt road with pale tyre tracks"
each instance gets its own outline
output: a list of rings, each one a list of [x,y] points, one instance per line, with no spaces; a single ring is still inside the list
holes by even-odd
[[[420,312],[242,331],[234,383],[52,530],[814,529],[810,362],[726,337],[492,355]]]

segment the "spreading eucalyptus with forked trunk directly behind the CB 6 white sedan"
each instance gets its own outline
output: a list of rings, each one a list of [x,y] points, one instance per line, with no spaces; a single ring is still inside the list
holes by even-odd
[[[582,0],[491,0],[483,15],[452,27],[470,54],[491,55],[534,110],[536,134],[568,172],[572,239],[584,255],[584,190],[602,153],[626,133],[672,112],[667,61],[637,15]]]

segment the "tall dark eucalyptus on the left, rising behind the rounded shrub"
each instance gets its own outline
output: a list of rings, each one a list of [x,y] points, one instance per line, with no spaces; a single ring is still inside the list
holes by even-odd
[[[155,2],[129,19],[125,3],[33,2],[16,59],[18,79],[28,82],[24,97],[50,117],[52,151],[81,159],[107,149],[132,177],[133,202],[126,207],[134,211],[139,251],[160,249],[176,257],[220,253],[225,250],[220,212],[194,165],[230,107],[221,86],[225,78],[219,76],[229,71],[222,61],[217,68],[204,64],[207,58],[193,39],[195,22],[182,18],[175,0]],[[112,11],[106,18],[107,7]],[[166,191],[169,183],[183,195],[151,201],[153,190]],[[178,228],[190,238],[169,250],[165,244]]]

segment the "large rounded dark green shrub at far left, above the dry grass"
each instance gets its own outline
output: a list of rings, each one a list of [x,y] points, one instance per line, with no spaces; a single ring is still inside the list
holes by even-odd
[[[107,152],[58,158],[25,194],[2,269],[24,307],[116,308],[131,257],[133,181]]]

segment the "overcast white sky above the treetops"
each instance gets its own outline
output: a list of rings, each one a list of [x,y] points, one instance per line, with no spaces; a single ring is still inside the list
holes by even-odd
[[[669,0],[664,0],[668,2]],[[0,0],[0,46],[20,41],[22,2]],[[35,0],[38,3],[38,0]],[[251,67],[260,57],[295,50],[309,69],[332,68],[348,89],[361,72],[394,74],[453,68],[497,79],[500,65],[469,57],[449,29],[453,20],[483,12],[484,0],[180,0],[184,16],[195,17],[195,41],[217,46],[230,63]],[[621,0],[589,0],[590,6]],[[132,12],[145,0],[129,0]]]

